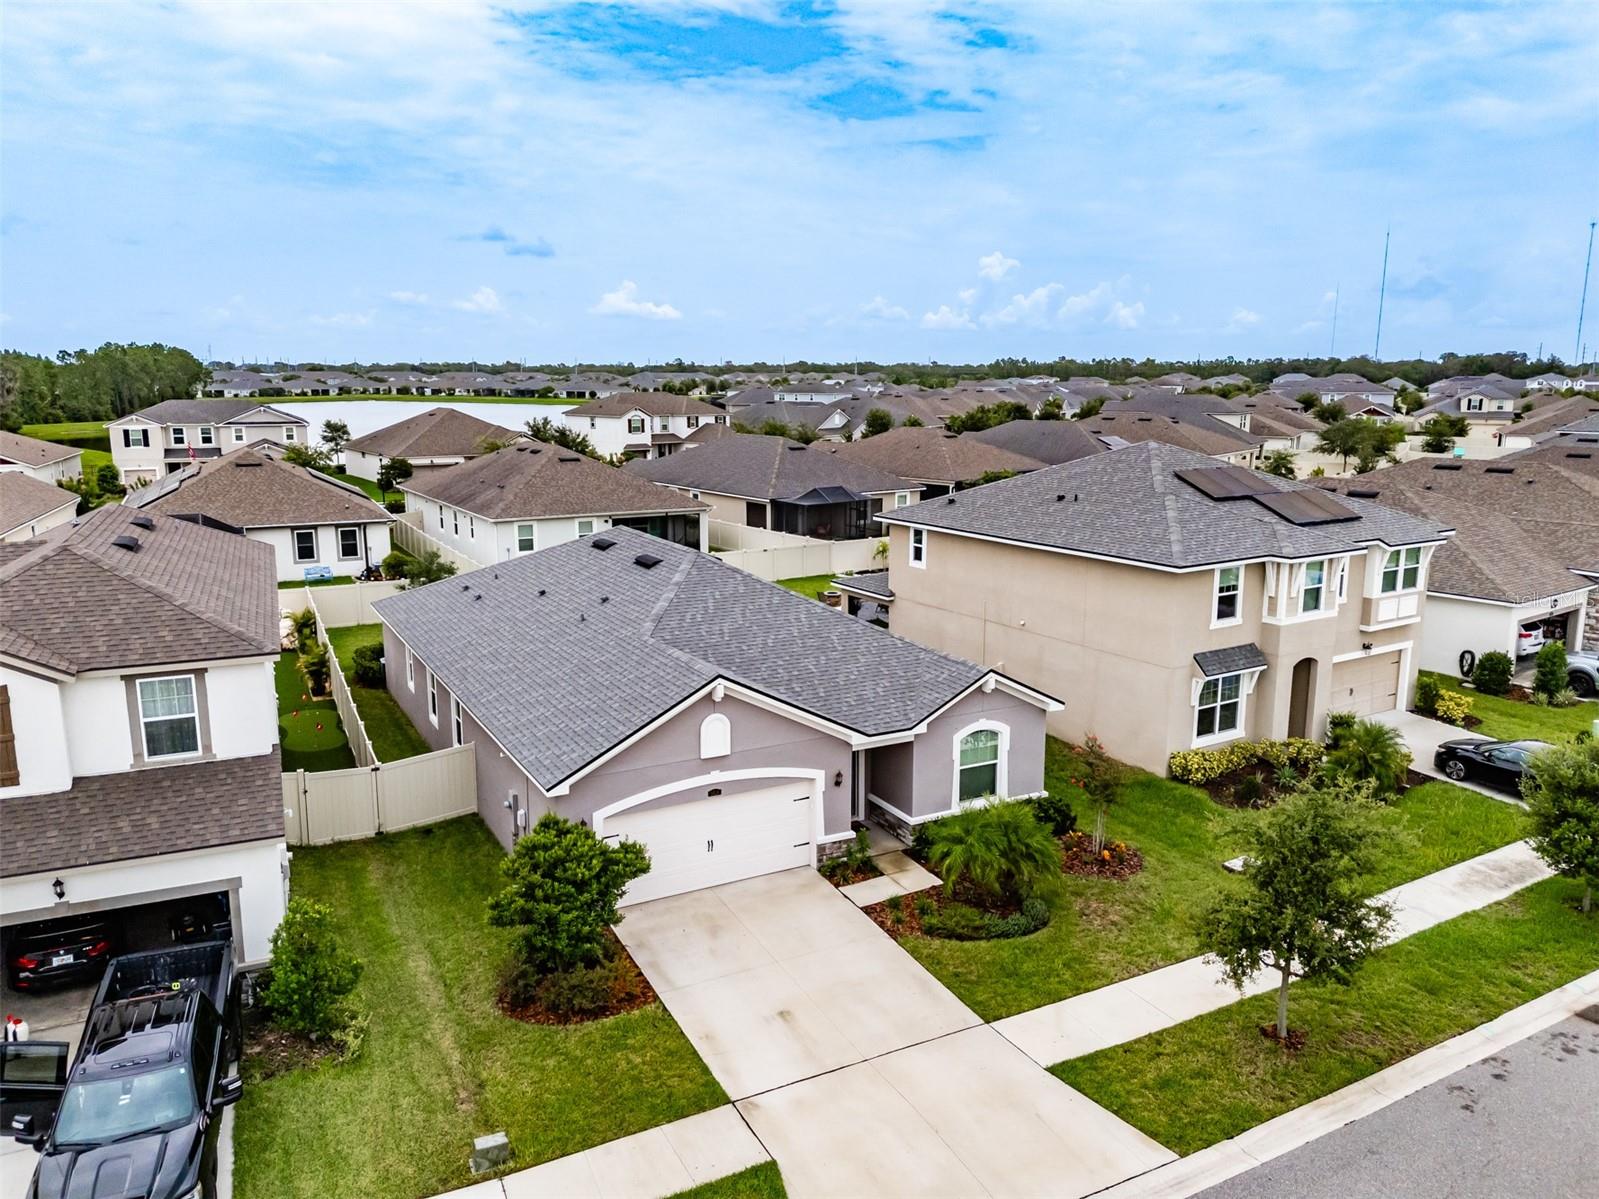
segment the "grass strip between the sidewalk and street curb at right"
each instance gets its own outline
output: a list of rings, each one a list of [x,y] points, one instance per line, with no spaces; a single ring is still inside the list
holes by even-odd
[[[1295,983],[1297,1054],[1260,1034],[1276,1014],[1263,994],[1052,1073],[1169,1149],[1202,1149],[1599,969],[1580,894],[1548,879],[1378,951],[1350,988]]]

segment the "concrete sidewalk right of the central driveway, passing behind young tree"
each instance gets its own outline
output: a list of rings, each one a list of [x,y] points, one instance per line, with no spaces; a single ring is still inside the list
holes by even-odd
[[[1404,882],[1382,895],[1394,905],[1390,942],[1497,903],[1549,876],[1549,868],[1530,846],[1517,841]],[[1274,985],[1274,978],[1257,977],[1241,996],[1238,988],[1222,978],[1215,962],[1190,958],[1097,991],[1035,1007],[993,1026],[1041,1066],[1052,1066],[1180,1025],[1244,996],[1270,991]]]

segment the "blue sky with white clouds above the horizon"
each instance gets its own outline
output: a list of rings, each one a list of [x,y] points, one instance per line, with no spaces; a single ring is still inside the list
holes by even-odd
[[[58,3],[0,42],[0,342],[216,358],[1570,358],[1554,5]],[[1589,341],[1599,344],[1599,294]]]

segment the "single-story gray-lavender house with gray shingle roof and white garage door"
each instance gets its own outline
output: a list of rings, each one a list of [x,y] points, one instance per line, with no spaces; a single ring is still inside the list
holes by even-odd
[[[374,609],[389,691],[430,745],[473,745],[500,844],[545,812],[640,841],[632,903],[1036,793],[1062,707],[636,529]]]

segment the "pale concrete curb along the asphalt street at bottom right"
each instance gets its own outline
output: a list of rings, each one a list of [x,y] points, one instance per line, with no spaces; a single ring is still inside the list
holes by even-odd
[[[1116,1183],[1103,1199],[1185,1199],[1234,1175],[1281,1157],[1345,1124],[1382,1111],[1390,1103],[1449,1078],[1517,1041],[1588,1007],[1599,999],[1599,970],[1565,983],[1468,1033],[1423,1049],[1359,1082],[1286,1111],[1225,1141]]]

